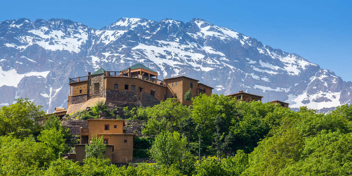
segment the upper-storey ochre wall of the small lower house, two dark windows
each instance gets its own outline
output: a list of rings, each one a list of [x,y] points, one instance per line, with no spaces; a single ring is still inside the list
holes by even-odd
[[[88,139],[92,140],[92,135],[96,137],[98,133],[123,133],[124,120],[114,119],[88,119]],[[105,130],[105,125],[109,125],[109,130]],[[117,125],[117,128],[114,128]]]

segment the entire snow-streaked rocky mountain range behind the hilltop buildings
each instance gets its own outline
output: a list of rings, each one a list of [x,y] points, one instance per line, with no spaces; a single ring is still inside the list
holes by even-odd
[[[68,78],[142,62],[159,79],[184,75],[214,93],[244,90],[326,112],[351,103],[352,82],[299,55],[202,19],[121,18],[100,30],[65,19],[0,23],[0,106],[25,97],[48,112],[67,106]]]

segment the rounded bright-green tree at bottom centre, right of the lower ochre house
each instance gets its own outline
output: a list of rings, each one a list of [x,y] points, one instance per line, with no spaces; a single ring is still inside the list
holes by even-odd
[[[170,168],[177,161],[182,161],[186,151],[186,137],[178,132],[170,133],[162,131],[155,137],[154,144],[150,150],[152,157],[158,164]]]

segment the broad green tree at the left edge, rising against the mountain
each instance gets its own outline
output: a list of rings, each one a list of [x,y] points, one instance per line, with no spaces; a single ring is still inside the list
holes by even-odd
[[[31,134],[37,136],[40,125],[36,119],[45,115],[42,106],[36,106],[29,99],[15,99],[16,103],[0,109],[0,135],[25,138]]]

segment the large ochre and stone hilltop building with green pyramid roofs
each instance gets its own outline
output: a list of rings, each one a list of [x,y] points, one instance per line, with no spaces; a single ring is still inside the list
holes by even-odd
[[[69,78],[70,94],[67,98],[67,114],[93,106],[103,100],[108,106],[153,106],[167,98],[177,98],[181,103],[184,94],[191,90],[194,96],[212,94],[212,87],[199,80],[177,76],[158,80],[158,73],[135,64],[121,71],[105,71],[100,68],[87,76]]]

